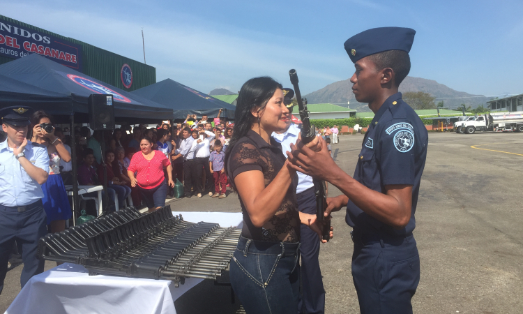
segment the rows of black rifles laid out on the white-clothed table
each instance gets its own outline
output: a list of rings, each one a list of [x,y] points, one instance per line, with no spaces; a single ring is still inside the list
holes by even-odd
[[[38,258],[81,264],[90,275],[216,280],[227,271],[241,230],[217,223],[189,223],[170,205],[149,214],[134,207],[47,234]]]

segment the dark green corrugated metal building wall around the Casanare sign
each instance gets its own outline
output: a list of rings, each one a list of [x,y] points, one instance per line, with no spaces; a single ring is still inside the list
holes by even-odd
[[[112,86],[119,87],[124,91],[134,91],[142,87],[156,83],[156,68],[148,66],[144,63],[122,57],[119,54],[108,52],[93,45],[83,43],[82,41],[61,36],[57,33],[46,31],[32,25],[13,20],[9,17],[0,15],[1,18],[8,20],[13,24],[20,25],[26,29],[32,29],[40,33],[55,36],[71,43],[82,46],[82,73],[96,78]],[[8,57],[0,56],[0,64],[13,61]],[[124,63],[127,63],[132,70],[132,86],[127,89],[121,82],[120,72]]]

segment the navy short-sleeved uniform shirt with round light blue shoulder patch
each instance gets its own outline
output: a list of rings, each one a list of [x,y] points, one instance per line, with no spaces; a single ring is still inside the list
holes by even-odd
[[[412,186],[411,218],[402,230],[381,223],[349,200],[345,221],[364,232],[409,234],[416,226],[421,174],[427,158],[428,133],[414,110],[404,103],[402,94],[387,98],[365,133],[354,179],[371,190],[385,193],[389,184]]]

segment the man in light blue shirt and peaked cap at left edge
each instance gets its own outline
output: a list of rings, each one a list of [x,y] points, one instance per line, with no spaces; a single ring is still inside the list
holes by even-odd
[[[47,234],[40,185],[49,175],[49,156],[45,147],[26,140],[29,114],[29,107],[20,106],[0,111],[2,130],[7,134],[0,143],[0,293],[15,241],[22,244],[22,287],[44,269],[36,249],[38,239]]]

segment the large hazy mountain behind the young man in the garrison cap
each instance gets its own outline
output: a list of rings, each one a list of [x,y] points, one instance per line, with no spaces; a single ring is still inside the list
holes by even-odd
[[[347,101],[351,104],[351,109],[358,110],[359,112],[370,111],[368,105],[357,103],[354,94],[352,94],[352,83],[349,80],[334,82],[328,84],[326,87],[313,91],[310,94],[305,95],[308,103],[335,103],[347,106]],[[483,105],[487,107],[487,100],[492,97],[485,97],[483,95],[472,95],[465,93],[464,91],[455,91],[444,84],[439,84],[434,80],[427,80],[421,77],[405,77],[402,84],[400,84],[400,91],[402,93],[406,91],[423,91],[429,93],[437,98],[455,98],[455,99],[437,99],[435,103],[439,101],[444,102],[445,107],[457,107],[464,103],[465,105],[471,106],[472,108]],[[469,98],[456,98],[456,97],[469,97]]]

